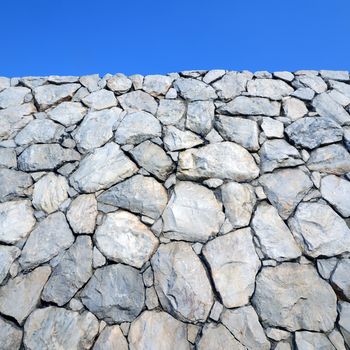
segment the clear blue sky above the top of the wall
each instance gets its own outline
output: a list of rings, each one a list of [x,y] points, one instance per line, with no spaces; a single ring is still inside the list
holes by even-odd
[[[0,76],[350,70],[350,0],[0,0]]]

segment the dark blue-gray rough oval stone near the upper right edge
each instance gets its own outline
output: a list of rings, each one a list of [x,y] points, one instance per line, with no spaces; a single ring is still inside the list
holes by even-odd
[[[297,146],[314,149],[341,140],[343,130],[330,118],[305,117],[289,125],[286,134]]]

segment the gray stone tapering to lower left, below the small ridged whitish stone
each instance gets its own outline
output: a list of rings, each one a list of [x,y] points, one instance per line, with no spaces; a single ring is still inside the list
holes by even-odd
[[[64,214],[53,213],[32,231],[19,262],[24,269],[31,269],[69,248],[73,241],[74,237]]]

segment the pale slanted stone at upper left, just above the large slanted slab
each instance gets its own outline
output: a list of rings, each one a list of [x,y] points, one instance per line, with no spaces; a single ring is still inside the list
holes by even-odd
[[[79,149],[86,152],[104,145],[113,137],[121,118],[122,110],[116,107],[87,114],[72,134]]]

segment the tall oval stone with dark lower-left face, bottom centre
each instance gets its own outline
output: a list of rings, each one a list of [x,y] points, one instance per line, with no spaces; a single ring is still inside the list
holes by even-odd
[[[177,319],[205,322],[213,305],[206,271],[191,246],[162,244],[152,257],[154,284],[163,308]]]

